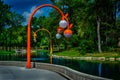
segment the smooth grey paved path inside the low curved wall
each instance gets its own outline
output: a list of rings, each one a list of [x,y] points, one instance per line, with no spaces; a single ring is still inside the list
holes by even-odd
[[[0,66],[0,80],[67,80],[63,76],[42,69]]]

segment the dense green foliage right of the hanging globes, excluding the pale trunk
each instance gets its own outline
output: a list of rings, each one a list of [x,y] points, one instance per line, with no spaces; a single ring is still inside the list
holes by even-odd
[[[62,7],[64,12],[69,13],[69,19],[74,24],[71,44],[78,47],[81,53],[94,52],[97,50],[97,24],[98,16],[101,19],[100,35],[102,49],[117,47],[119,37],[118,20],[116,10],[119,11],[119,1],[113,0],[61,0],[53,1]],[[116,4],[115,4],[116,2]],[[78,4],[79,3],[79,4]],[[115,24],[117,22],[117,25]],[[74,41],[74,42],[72,42]],[[79,45],[78,45],[79,44]],[[109,50],[108,50],[109,51]]]

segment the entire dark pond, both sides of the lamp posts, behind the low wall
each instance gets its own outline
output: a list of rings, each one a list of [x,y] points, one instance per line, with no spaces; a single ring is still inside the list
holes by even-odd
[[[26,55],[0,55],[2,61],[26,61]],[[49,55],[40,52],[32,55],[31,61],[49,63]],[[53,58],[53,64],[64,65],[79,72],[120,80],[120,61],[81,61],[75,59]]]

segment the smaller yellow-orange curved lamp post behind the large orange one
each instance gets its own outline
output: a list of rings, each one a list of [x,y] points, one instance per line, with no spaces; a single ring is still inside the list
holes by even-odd
[[[41,31],[41,30],[46,31],[50,35],[50,63],[52,64],[52,52],[53,52],[53,49],[52,49],[52,36],[51,36],[50,31],[48,31],[47,29],[44,29],[44,28],[38,29],[37,31],[33,32],[34,40],[36,41],[36,37],[37,37],[36,33],[38,31]]]

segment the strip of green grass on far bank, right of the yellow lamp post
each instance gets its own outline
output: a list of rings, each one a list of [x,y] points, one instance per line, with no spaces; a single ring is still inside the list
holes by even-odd
[[[120,57],[120,54],[118,54],[117,52],[86,53],[85,55],[82,55],[76,49],[56,52],[53,55],[69,56],[69,57]]]

